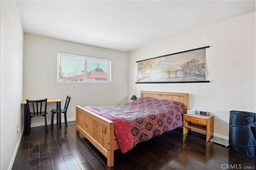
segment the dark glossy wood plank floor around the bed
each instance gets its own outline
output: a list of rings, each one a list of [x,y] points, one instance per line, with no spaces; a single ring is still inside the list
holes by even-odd
[[[138,144],[126,154],[114,153],[114,167],[108,168],[106,158],[75,130],[68,128],[45,133],[44,126],[31,128],[23,136],[12,167],[13,170],[217,170],[256,169],[256,158],[236,154],[216,143],[205,142],[205,135],[182,129],[166,132]]]

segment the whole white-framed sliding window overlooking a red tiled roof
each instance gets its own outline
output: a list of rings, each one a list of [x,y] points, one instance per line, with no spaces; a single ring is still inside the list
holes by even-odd
[[[57,53],[57,82],[110,83],[111,60]]]

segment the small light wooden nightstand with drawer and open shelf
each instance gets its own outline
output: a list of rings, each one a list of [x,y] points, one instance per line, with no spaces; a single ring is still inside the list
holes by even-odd
[[[213,116],[205,116],[200,114],[184,114],[183,134],[188,133],[191,129],[204,132],[206,133],[206,142],[208,142],[213,137],[213,122]]]

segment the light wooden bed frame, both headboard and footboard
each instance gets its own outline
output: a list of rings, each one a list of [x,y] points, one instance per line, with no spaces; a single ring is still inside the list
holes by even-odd
[[[141,91],[140,97],[175,100],[188,108],[188,93]],[[76,132],[82,133],[104,156],[109,167],[114,166],[114,150],[119,145],[114,138],[114,123],[83,107],[76,106]]]

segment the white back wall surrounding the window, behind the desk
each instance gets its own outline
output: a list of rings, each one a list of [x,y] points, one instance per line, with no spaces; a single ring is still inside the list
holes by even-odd
[[[111,84],[57,83],[57,52],[111,59]],[[97,106],[126,102],[127,75],[126,52],[24,34],[24,99],[62,98],[65,100],[68,95],[71,97],[68,121],[75,120],[77,105]],[[62,102],[63,105],[64,102]],[[56,104],[48,104],[48,113],[51,113],[50,110],[53,108],[56,108]],[[47,116],[49,123],[50,115]],[[32,118],[31,126],[39,125],[44,125],[44,118]]]

